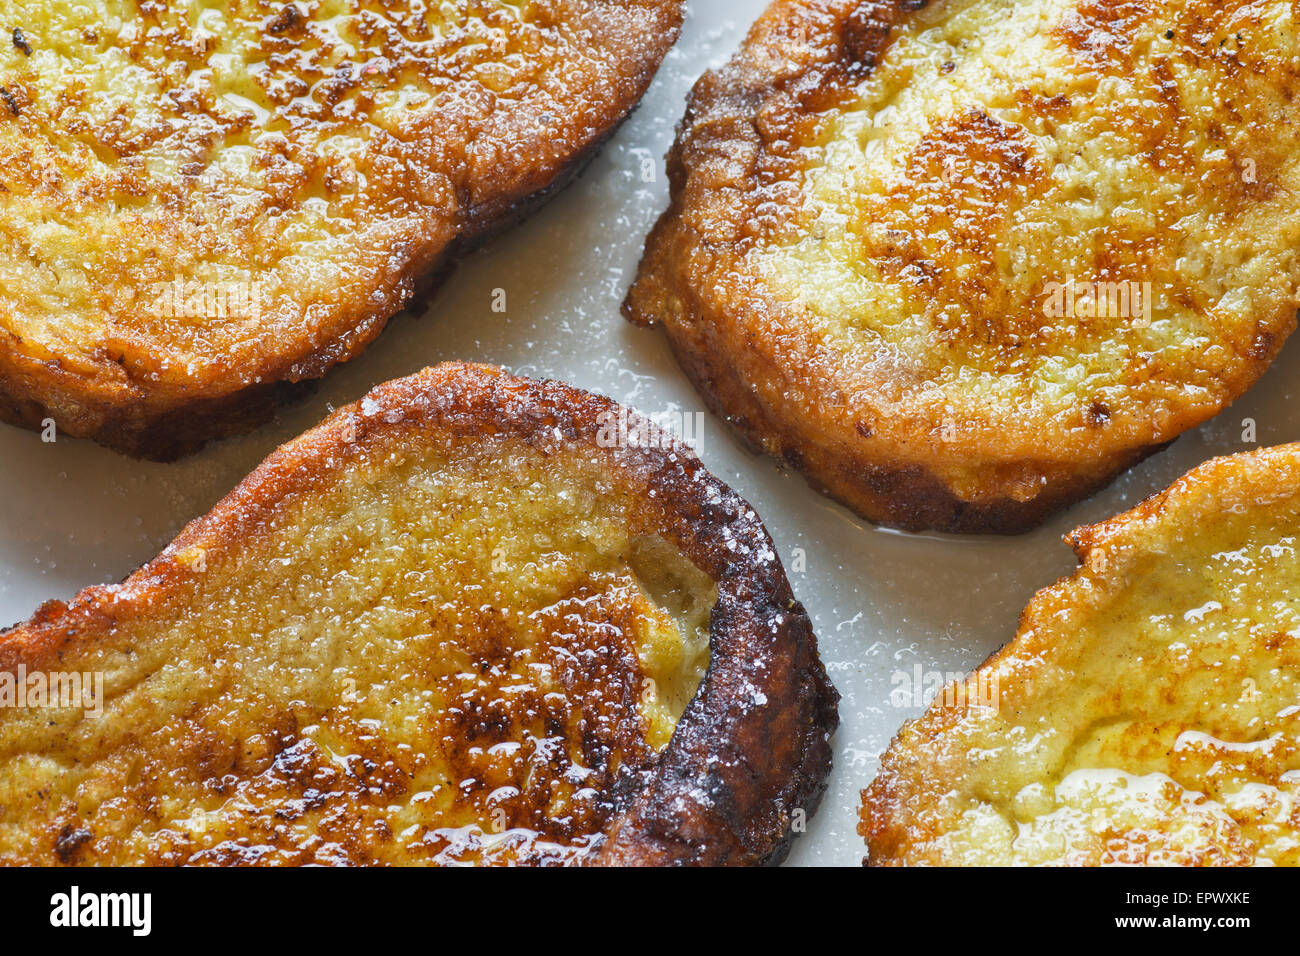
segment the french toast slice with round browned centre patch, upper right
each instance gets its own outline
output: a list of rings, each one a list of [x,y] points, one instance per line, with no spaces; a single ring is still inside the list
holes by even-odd
[[[1297,62],[1287,0],[777,0],[625,311],[863,516],[1024,531],[1295,328]]]

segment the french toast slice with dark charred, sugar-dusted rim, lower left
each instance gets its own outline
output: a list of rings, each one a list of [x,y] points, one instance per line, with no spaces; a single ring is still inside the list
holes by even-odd
[[[6,685],[0,864],[775,862],[837,723],[744,501],[608,399],[468,364],[0,636]]]

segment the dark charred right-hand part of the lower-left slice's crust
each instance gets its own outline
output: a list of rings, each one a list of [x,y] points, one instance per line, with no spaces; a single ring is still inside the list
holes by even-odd
[[[458,375],[499,375],[474,365],[441,367],[448,368]],[[503,395],[516,389],[516,395]],[[619,408],[562,382],[511,376],[493,382],[482,406],[474,420],[499,421],[525,441],[545,445],[559,429],[564,440],[592,447],[602,414]],[[811,817],[826,791],[829,739],[838,724],[838,695],[818,656],[811,622],[794,601],[758,515],[693,451],[670,441],[612,454],[619,472],[656,493],[656,510],[667,522],[656,529],[715,580],[719,597],[705,682],[650,774],[628,784],[629,804],[588,862],[780,861],[793,838],[794,810]],[[740,548],[728,546],[734,541]],[[754,559],[763,553],[771,559]],[[754,688],[764,689],[775,715],[746,706],[745,695]],[[762,758],[774,754],[763,766]]]

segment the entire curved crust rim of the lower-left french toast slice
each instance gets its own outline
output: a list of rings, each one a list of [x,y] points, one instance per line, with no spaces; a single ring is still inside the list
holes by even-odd
[[[372,449],[489,433],[511,434],[541,455],[558,444],[578,445],[608,457],[611,471],[637,492],[640,509],[629,519],[664,535],[718,585],[705,680],[656,763],[619,783],[623,809],[585,862],[779,862],[796,812],[811,817],[826,792],[838,693],[754,510],[676,441],[599,447],[601,421],[618,408],[560,382],[468,363],[380,385],[273,453],[122,584],[46,604],[0,635],[0,669],[40,667],[147,615],[196,574],[185,553],[255,541],[287,501],[317,493]]]

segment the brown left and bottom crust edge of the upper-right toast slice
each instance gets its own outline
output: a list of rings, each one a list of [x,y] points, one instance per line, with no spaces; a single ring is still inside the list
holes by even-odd
[[[926,5],[927,0],[775,0],[768,7],[736,56],[705,74],[690,94],[668,153],[670,207],[646,239],[623,311],[638,325],[664,326],[686,377],[750,450],[790,464],[815,490],[863,518],[904,531],[1018,535],[1104,488],[1173,438],[1106,446],[1095,437],[1087,463],[997,462],[980,481],[982,492],[963,498],[932,455],[900,460],[897,446],[870,428],[823,414],[815,365],[835,359],[790,330],[797,323],[788,307],[760,294],[725,300],[711,282],[699,281],[719,269],[741,272],[738,237],[744,222],[758,215],[760,196],[753,183],[760,160],[774,160],[771,140],[786,143],[801,121],[846,95],[854,78],[874,66],[893,27]],[[729,232],[731,239],[706,237],[701,221],[711,233]],[[749,347],[754,336],[737,316],[753,312],[781,326],[781,342],[774,341],[772,350],[779,346],[783,355],[801,360],[772,367],[760,350]],[[1268,369],[1286,338],[1270,336],[1258,354],[1252,352],[1243,372],[1247,382]],[[764,394],[759,385],[771,388]],[[797,405],[809,414],[788,414]],[[1175,437],[1201,420],[1175,418]],[[924,445],[926,436],[918,437]]]

